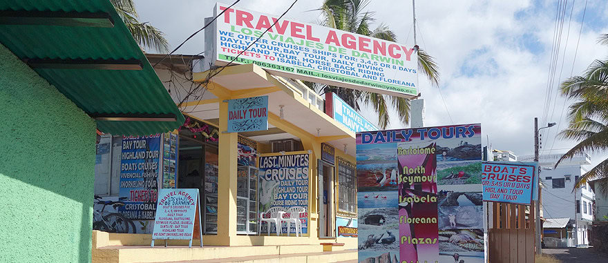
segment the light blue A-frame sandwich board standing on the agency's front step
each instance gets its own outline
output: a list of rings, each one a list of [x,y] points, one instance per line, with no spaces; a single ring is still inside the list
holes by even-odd
[[[190,240],[190,246],[192,246],[196,220],[198,220],[198,231],[202,237],[198,195],[196,188],[160,189],[152,232],[152,246],[154,246],[154,240]],[[199,213],[196,213],[197,209]],[[200,246],[202,246],[202,242]]]

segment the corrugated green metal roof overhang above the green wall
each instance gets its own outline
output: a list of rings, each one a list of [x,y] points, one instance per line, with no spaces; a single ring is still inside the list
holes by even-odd
[[[180,110],[108,0],[1,0],[0,12],[106,13],[113,27],[0,23],[0,43],[23,61],[139,61],[141,70],[32,68],[85,113],[175,115],[175,121],[97,120],[104,133],[145,135],[178,128]],[[9,24],[7,24],[9,23]]]

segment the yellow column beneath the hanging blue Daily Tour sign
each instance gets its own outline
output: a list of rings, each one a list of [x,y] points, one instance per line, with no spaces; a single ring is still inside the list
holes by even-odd
[[[229,246],[236,242],[236,159],[237,133],[228,128],[228,103],[220,101],[220,139],[218,167],[218,241]]]

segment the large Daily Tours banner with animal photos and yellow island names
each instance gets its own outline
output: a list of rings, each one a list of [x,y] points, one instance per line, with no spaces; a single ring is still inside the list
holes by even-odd
[[[357,133],[359,261],[484,262],[481,126]]]

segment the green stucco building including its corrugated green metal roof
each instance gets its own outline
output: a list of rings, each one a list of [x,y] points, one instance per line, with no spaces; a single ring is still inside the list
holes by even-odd
[[[96,129],[184,117],[108,0],[0,0],[0,262],[91,262]]]

